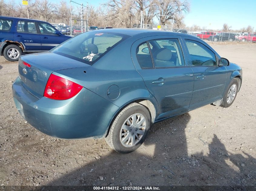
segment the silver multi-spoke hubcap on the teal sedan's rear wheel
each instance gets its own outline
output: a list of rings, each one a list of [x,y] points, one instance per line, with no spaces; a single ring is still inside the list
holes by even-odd
[[[120,141],[125,147],[136,145],[146,130],[146,120],[141,113],[135,113],[129,116],[121,127]]]

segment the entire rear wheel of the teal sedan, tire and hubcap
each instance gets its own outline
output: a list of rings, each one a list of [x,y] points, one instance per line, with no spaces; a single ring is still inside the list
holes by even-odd
[[[133,122],[133,116],[136,117],[135,124]],[[140,122],[143,123],[139,125]],[[137,123],[138,126],[136,126]],[[119,153],[130,153],[139,148],[144,142],[150,126],[151,117],[149,111],[141,104],[131,103],[121,110],[112,121],[105,140],[115,151]],[[121,143],[121,140],[123,140],[123,143]]]

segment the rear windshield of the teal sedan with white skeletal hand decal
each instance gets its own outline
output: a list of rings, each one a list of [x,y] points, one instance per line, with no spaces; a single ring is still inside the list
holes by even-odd
[[[119,33],[89,31],[65,41],[50,52],[92,65],[126,38],[127,35]]]

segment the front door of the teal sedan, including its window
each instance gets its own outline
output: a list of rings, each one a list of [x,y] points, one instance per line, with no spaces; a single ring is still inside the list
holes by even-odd
[[[185,37],[186,52],[194,71],[194,90],[189,109],[213,103],[222,98],[227,69],[218,66],[218,59],[206,43]]]

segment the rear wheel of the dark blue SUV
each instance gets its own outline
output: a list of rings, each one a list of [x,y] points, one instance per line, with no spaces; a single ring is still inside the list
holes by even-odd
[[[6,60],[11,62],[18,61],[19,56],[22,55],[22,50],[18,46],[10,44],[5,47],[3,55]]]

